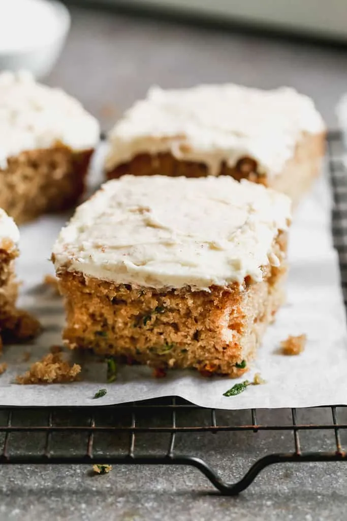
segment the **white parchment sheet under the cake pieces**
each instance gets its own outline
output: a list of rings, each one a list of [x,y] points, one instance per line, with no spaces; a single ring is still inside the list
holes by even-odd
[[[2,362],[8,370],[0,377],[1,405],[107,405],[177,395],[204,407],[308,407],[347,405],[347,334],[340,289],[338,256],[330,231],[331,193],[320,179],[301,204],[290,232],[288,301],[280,310],[259,349],[249,373],[239,380],[203,378],[193,371],[169,371],[165,378],[151,377],[146,367],[120,367],[117,381],[106,383],[106,364],[92,355],[67,357],[83,366],[80,382],[36,386],[14,383],[52,344],[61,344],[64,323],[60,297],[40,288],[43,276],[53,268],[50,249],[64,218],[44,217],[21,228],[18,275],[24,281],[20,304],[42,321],[46,331],[30,346],[5,348]],[[307,334],[299,356],[279,354],[279,342],[288,334]],[[30,350],[29,362],[23,352]],[[237,396],[223,393],[237,381],[251,380],[259,372],[266,383],[250,386]],[[107,394],[93,400],[95,392]]]

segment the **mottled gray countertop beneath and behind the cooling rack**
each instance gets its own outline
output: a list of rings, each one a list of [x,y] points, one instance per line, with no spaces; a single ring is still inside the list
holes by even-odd
[[[329,126],[347,91],[347,49],[199,29],[168,22],[72,10],[72,30],[49,84],[76,95],[110,128],[153,83],[164,87],[235,81],[271,88],[288,84],[311,95]],[[218,413],[242,421],[246,413]],[[234,416],[227,416],[234,415]],[[262,421],[285,421],[285,412],[262,412]],[[327,410],[306,412],[328,420]],[[347,413],[341,412],[344,423]],[[200,421],[191,416],[191,422]],[[288,420],[288,418],[287,418]],[[182,418],[187,421],[187,418]],[[289,421],[289,420],[288,420]],[[303,449],[333,450],[333,432],[303,436]],[[19,445],[30,443],[18,439]],[[342,435],[347,442],[347,433]],[[147,443],[147,445],[146,445]],[[160,435],[139,440],[160,447]],[[210,433],[178,439],[178,450],[204,455],[228,481],[269,452],[293,450],[289,433]],[[277,465],[264,470],[239,497],[221,497],[196,469],[114,468],[93,477],[90,466],[0,467],[0,519],[345,519],[345,464]]]

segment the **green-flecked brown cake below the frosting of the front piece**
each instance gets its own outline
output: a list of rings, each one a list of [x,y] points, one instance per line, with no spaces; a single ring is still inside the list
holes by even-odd
[[[209,292],[160,291],[63,271],[63,338],[72,349],[93,349],[127,363],[240,376],[284,302],[286,242],[286,233],[280,233],[273,253],[281,263],[264,267],[261,282],[248,277]]]

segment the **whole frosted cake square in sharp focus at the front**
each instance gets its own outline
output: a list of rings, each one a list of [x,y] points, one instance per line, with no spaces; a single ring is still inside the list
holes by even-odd
[[[54,246],[66,343],[242,374],[284,299],[290,205],[227,176],[107,182]]]

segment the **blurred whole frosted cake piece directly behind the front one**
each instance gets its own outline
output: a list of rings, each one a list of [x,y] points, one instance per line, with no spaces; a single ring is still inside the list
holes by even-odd
[[[246,178],[297,205],[324,150],[322,117],[293,89],[152,88],[110,132],[105,169],[108,179],[127,173]]]

